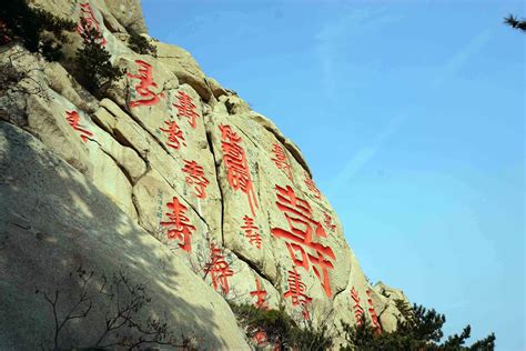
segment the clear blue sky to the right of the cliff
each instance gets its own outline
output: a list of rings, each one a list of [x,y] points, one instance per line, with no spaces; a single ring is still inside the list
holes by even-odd
[[[524,3],[142,0],[302,149],[373,280],[524,350]]]

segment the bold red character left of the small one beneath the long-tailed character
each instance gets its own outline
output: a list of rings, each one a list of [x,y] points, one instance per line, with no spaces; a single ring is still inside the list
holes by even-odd
[[[169,227],[168,229],[168,239],[178,239],[181,240],[182,243],[179,243],[179,247],[186,252],[192,251],[192,241],[190,235],[192,231],[195,231],[195,227],[190,224],[190,220],[184,212],[186,212],[188,208],[182,204],[178,198],[173,197],[173,202],[169,202],[166,207],[171,210],[171,212],[166,212],[165,214],[169,218],[168,222],[161,222],[162,227]]]

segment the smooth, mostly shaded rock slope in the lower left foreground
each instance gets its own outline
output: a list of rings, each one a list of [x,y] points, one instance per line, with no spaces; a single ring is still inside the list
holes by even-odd
[[[77,274],[70,275],[80,265],[95,272],[88,285],[93,310],[67,325],[61,348],[94,345],[104,330],[103,312],[112,308],[112,301],[98,299],[101,275],[120,271],[145,284],[150,313],[175,325],[178,337],[195,337],[205,349],[247,348],[212,288],[89,179],[6,122],[0,122],[0,349],[52,344],[52,305],[42,293],[54,299],[59,291],[58,313],[64,318],[82,294]]]

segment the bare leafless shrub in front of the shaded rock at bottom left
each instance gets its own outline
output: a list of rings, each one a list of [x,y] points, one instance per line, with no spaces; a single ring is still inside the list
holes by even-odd
[[[146,287],[132,282],[124,272],[119,271],[108,280],[101,275],[94,279],[94,272],[88,272],[79,267],[71,278],[79,280],[80,292],[73,303],[61,299],[63,291],[53,293],[37,290],[50,304],[53,314],[53,350],[63,349],[60,344],[61,334],[73,320],[84,320],[95,305],[107,307],[103,318],[102,332],[91,341],[91,348],[127,348],[136,350],[151,347],[170,347],[182,350],[195,349],[196,339],[185,335],[176,338],[165,321],[149,317],[145,321],[140,318],[142,311],[151,302]],[[102,283],[100,283],[102,282]],[[65,312],[60,312],[65,310]]]

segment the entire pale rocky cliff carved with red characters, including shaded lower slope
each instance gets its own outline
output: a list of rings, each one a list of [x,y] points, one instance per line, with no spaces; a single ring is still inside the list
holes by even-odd
[[[189,52],[150,39],[135,0],[33,6],[89,20],[127,73],[98,100],[59,63],[1,48],[20,72],[0,97],[1,349],[93,345],[121,285],[131,297],[145,287],[142,318],[203,349],[253,343],[226,301],[396,328],[405,295],[367,282],[302,152],[270,119]],[[130,30],[156,56],[131,51]]]

